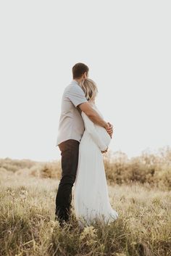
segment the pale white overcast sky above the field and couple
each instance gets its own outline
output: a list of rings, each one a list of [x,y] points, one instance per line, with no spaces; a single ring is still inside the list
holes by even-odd
[[[84,62],[110,149],[171,146],[170,1],[1,1],[0,157],[57,160],[61,97]]]

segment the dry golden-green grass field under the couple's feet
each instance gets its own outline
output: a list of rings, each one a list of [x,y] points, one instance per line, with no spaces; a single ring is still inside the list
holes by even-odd
[[[61,228],[54,221],[59,178],[41,176],[33,162],[26,161],[27,168],[26,162],[21,168],[19,160],[10,168],[2,162],[0,255],[171,255],[171,191],[167,187],[108,181],[110,202],[119,218],[109,226],[96,221],[81,229],[72,207],[70,223]]]

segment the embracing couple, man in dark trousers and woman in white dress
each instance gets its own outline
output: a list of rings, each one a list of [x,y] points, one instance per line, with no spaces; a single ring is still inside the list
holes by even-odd
[[[80,226],[92,220],[109,223],[118,213],[109,202],[103,155],[112,139],[113,126],[96,107],[96,83],[88,78],[88,66],[72,67],[72,81],[64,89],[57,146],[61,152],[62,178],[56,197],[55,220],[70,220],[72,186],[75,216]]]

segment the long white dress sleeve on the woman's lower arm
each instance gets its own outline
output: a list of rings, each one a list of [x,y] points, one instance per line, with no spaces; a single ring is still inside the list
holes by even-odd
[[[107,145],[104,144],[104,142],[101,140],[101,137],[99,136],[99,133],[96,131],[96,127],[94,126],[94,123],[90,120],[90,118],[84,113],[81,112],[81,115],[83,117],[84,125],[88,133],[91,135],[91,138],[96,143],[97,146],[99,146],[99,149],[101,151],[104,151],[107,149]]]

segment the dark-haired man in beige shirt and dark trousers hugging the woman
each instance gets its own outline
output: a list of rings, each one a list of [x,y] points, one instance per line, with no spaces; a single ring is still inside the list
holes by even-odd
[[[59,220],[61,226],[70,218],[72,186],[78,168],[79,144],[84,132],[81,111],[85,112],[93,123],[106,128],[111,137],[113,133],[113,126],[101,119],[96,110],[93,110],[81,88],[83,81],[88,78],[88,70],[88,66],[83,63],[75,64],[72,67],[73,79],[64,89],[62,96],[57,136],[57,146],[62,156],[62,178],[57,191],[55,210],[55,220]]]

